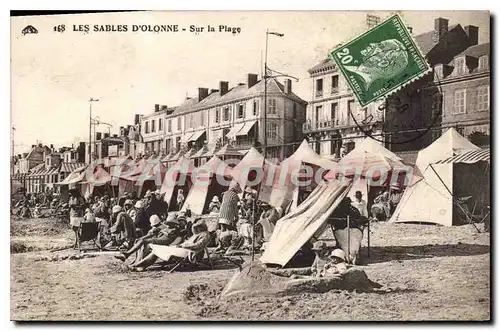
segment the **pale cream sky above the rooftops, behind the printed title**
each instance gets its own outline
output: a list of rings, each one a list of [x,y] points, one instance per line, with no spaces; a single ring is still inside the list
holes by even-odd
[[[134,114],[148,114],[155,104],[176,106],[198,87],[218,89],[261,74],[265,32],[268,66],[297,77],[293,91],[311,100],[307,69],[335,45],[366,31],[366,14],[380,11],[183,12],[156,11],[11,18],[11,124],[15,153],[41,142],[56,147],[88,140],[89,98],[93,116],[113,125],[133,124]],[[489,42],[490,16],[485,11],[402,11],[417,35],[434,28],[434,19],[479,27],[479,43]],[[90,25],[88,33],[74,25]],[[127,25],[126,32],[93,32],[93,25]],[[186,31],[133,32],[132,25],[178,24]],[[38,34],[23,35],[32,25]],[[64,32],[54,27],[64,25]],[[191,25],[204,32],[191,33]],[[206,32],[207,26],[216,32]],[[219,32],[219,25],[240,33]],[[57,29],[57,28],[56,28]],[[78,28],[77,28],[78,29]],[[106,126],[98,131],[107,132]]]

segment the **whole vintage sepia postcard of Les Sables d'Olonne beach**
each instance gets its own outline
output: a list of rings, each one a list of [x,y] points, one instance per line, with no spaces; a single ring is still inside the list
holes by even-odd
[[[490,19],[12,12],[11,320],[491,321]]]

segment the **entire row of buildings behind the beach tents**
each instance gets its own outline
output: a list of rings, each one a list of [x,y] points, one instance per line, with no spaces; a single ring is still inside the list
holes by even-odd
[[[196,97],[180,105],[156,104],[150,113],[135,115],[134,123],[120,127],[118,134],[96,134],[91,144],[78,147],[78,159],[60,153],[60,168],[89,163],[90,147],[92,158],[137,158],[225,145],[245,152],[267,141],[267,157],[283,160],[304,138],[317,153],[338,159],[367,134],[411,163],[416,151],[449,127],[477,145],[489,145],[490,44],[478,44],[478,36],[476,26],[449,26],[447,19],[436,18],[433,29],[414,36],[432,72],[365,108],[329,58],[308,70],[308,101],[293,92],[290,79],[264,80],[252,73],[232,87],[227,81],[213,89],[199,87]],[[75,149],[72,153],[77,155]],[[20,157],[14,173],[26,175],[42,164],[32,159]]]

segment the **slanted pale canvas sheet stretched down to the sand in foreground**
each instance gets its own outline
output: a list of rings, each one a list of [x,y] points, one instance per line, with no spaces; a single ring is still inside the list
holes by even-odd
[[[317,238],[350,186],[337,180],[318,185],[296,210],[278,220],[260,258],[262,263],[284,266],[307,241]]]

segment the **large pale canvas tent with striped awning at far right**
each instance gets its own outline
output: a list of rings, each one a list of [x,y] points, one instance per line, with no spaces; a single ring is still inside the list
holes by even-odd
[[[390,222],[458,225],[463,224],[466,218],[465,206],[458,203],[459,198],[471,197],[466,203],[469,211],[489,205],[489,150],[481,150],[475,145],[468,151],[464,150],[469,144],[460,142],[461,139],[457,141],[454,133],[448,132],[448,139],[455,142],[438,141],[441,137],[436,140],[440,149],[432,146],[436,142],[427,148],[427,152],[440,154],[442,158],[435,160],[433,155],[423,155],[425,162],[421,165],[434,160],[427,164],[423,179],[406,188]],[[455,155],[450,157],[450,154]]]

